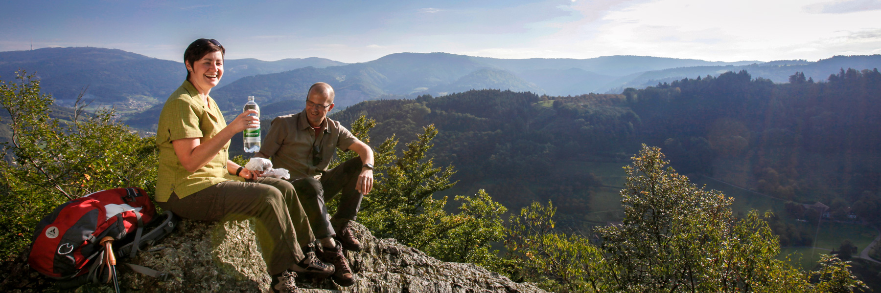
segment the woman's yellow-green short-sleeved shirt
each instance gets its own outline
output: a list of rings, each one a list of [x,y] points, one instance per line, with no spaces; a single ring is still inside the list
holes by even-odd
[[[201,137],[207,141],[217,136],[220,129],[226,128],[223,113],[214,99],[208,97],[205,104],[196,87],[184,81],[168,97],[162,113],[159,114],[159,128],[156,130],[156,145],[159,147],[159,176],[156,180],[156,201],[168,201],[172,193],[179,198],[194,194],[205,187],[211,187],[228,180],[241,181],[241,177],[226,171],[229,158],[229,142],[217,156],[196,172],[188,172],[174,154],[171,142],[175,139]]]

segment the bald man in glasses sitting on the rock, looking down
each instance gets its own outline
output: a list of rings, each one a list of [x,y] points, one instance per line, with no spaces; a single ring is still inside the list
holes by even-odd
[[[343,247],[352,251],[361,249],[349,225],[358,216],[364,194],[373,188],[374,152],[338,121],[327,117],[333,109],[333,99],[334,91],[329,84],[312,84],[303,112],[272,120],[269,134],[255,157],[271,157],[273,166],[291,172],[291,183],[312,232],[323,246],[319,258],[337,268],[332,276],[335,282],[350,286],[354,275],[345,260]],[[335,149],[354,150],[359,157],[327,170]],[[339,207],[330,218],[325,202],[337,193],[341,194]]]

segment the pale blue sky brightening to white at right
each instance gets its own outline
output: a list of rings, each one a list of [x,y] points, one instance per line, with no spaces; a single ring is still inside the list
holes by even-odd
[[[881,54],[881,0],[0,1],[0,51],[118,48],[178,62],[198,38],[220,41],[228,59],[266,61]]]

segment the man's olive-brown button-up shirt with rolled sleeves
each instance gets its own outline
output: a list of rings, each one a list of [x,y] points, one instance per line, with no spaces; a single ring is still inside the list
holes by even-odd
[[[327,171],[336,149],[346,150],[358,138],[339,125],[339,121],[325,118],[322,131],[315,137],[315,129],[309,126],[306,110],[298,114],[278,116],[272,120],[270,131],[263,139],[255,157],[272,158],[272,167],[285,168],[291,179],[321,178]],[[321,162],[312,165],[313,146],[319,146]]]

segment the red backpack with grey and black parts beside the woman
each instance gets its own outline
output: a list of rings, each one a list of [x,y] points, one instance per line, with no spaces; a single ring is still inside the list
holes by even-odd
[[[27,263],[57,280],[85,275],[89,262],[104,253],[101,238],[129,242],[132,239],[127,236],[135,232],[133,240],[138,247],[126,252],[134,255],[140,250],[144,223],[154,217],[156,208],[150,197],[137,187],[109,189],[67,201],[37,225]]]

